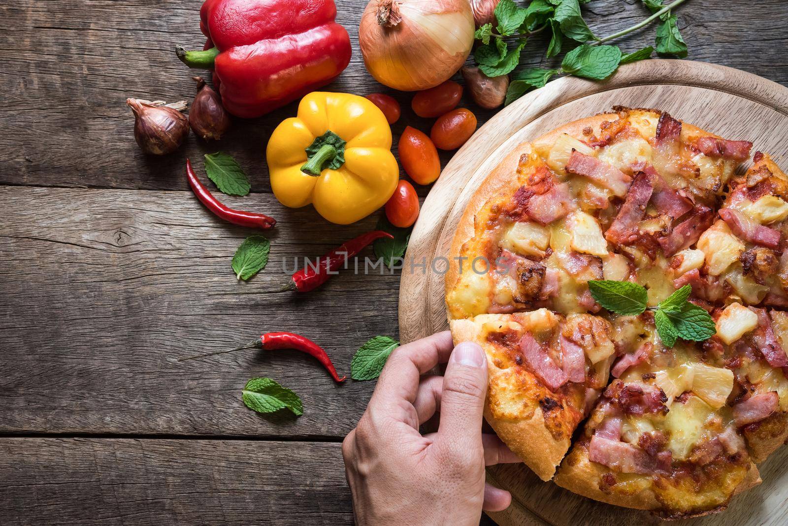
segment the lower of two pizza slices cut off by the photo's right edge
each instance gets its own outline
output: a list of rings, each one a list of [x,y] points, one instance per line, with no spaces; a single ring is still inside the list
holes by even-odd
[[[715,313],[709,356],[734,373],[735,424],[761,462],[788,439],[788,313],[731,303]]]

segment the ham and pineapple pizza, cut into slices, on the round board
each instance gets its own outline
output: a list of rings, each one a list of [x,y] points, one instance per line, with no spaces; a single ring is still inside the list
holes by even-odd
[[[487,354],[485,419],[542,480],[692,517],[786,443],[788,176],[760,152],[742,170],[752,146],[615,107],[520,144],[470,198],[449,324]],[[645,287],[645,311],[605,309],[603,280]],[[711,337],[660,332],[682,293]]]

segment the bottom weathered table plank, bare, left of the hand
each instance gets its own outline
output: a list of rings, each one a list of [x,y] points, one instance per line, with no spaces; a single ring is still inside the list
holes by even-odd
[[[353,524],[339,443],[0,439],[2,524]]]

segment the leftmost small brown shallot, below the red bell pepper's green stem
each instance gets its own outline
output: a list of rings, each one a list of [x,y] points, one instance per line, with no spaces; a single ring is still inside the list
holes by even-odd
[[[143,152],[151,155],[172,154],[189,134],[188,119],[177,109],[156,106],[139,98],[127,98],[134,112],[134,139]]]

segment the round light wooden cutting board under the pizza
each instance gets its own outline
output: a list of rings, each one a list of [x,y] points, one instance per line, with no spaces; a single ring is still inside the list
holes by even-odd
[[[647,60],[623,66],[605,82],[564,77],[548,83],[479,128],[429,192],[400,282],[403,343],[448,328],[441,273],[446,267],[435,258],[448,257],[466,203],[500,159],[523,141],[617,105],[665,110],[727,139],[752,141],[753,151],[770,153],[788,169],[788,88],[759,76],[703,62]],[[422,261],[426,269],[418,266]],[[764,482],[734,498],[725,512],[682,524],[788,524],[788,447],[759,469]],[[489,513],[504,526],[660,523],[649,513],[609,506],[542,482],[524,465],[494,466],[487,473],[489,482],[511,491],[509,509]]]

